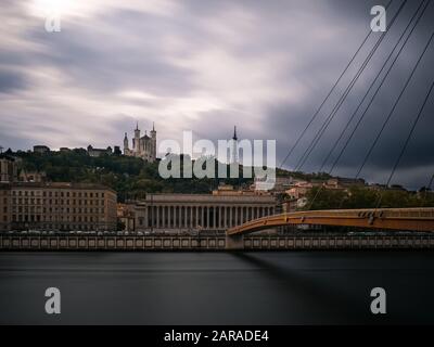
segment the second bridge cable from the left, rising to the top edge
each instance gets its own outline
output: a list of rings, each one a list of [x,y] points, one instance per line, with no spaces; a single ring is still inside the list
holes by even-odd
[[[407,3],[407,0],[404,0],[403,3],[400,4],[399,9],[395,13],[394,17],[391,20],[390,27],[393,25],[393,23],[395,22],[395,20],[397,18],[398,14],[400,13],[400,11],[403,10],[403,8],[404,8],[404,5],[406,3]],[[319,140],[323,136],[323,133],[327,130],[327,128],[329,127],[330,123],[333,120],[334,116],[337,114],[337,111],[340,110],[342,104],[345,102],[345,99],[347,98],[347,95],[352,91],[353,87],[355,86],[355,83],[357,82],[358,78],[360,77],[360,75],[365,70],[366,66],[370,62],[372,55],[375,53],[376,49],[379,48],[380,43],[383,41],[383,39],[384,39],[386,34],[387,34],[387,31],[384,31],[381,35],[380,39],[376,41],[375,46],[370,51],[369,55],[365,60],[363,64],[360,66],[359,70],[357,72],[357,74],[355,75],[355,77],[353,78],[350,83],[346,87],[346,89],[344,91],[344,94],[340,98],[340,100],[337,101],[336,105],[333,107],[333,110],[331,111],[329,116],[326,118],[324,123],[322,124],[322,126],[317,131],[316,136],[314,137],[314,139],[310,141],[309,145],[307,146],[307,149],[303,153],[302,157],[298,159],[297,165],[294,168],[295,171],[301,170],[301,168],[306,163],[306,160],[308,159],[308,157],[311,154],[311,152],[314,151],[314,149],[317,146]]]

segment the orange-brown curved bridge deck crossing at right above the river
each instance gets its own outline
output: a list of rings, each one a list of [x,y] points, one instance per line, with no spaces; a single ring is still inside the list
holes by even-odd
[[[294,226],[335,226],[396,231],[434,231],[434,208],[380,208],[306,210],[267,216],[227,230],[228,236],[240,236],[265,229]]]

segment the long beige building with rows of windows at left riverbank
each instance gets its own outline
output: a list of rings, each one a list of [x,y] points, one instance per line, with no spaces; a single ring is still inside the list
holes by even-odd
[[[0,183],[0,230],[116,230],[116,200],[99,184]]]

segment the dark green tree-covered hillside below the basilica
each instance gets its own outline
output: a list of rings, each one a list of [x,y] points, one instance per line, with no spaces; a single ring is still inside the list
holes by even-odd
[[[16,152],[20,169],[46,172],[54,182],[101,183],[114,189],[120,202],[142,197],[148,193],[209,193],[220,182],[234,187],[248,187],[252,179],[163,179],[158,163],[124,155],[89,156],[86,150],[65,152]],[[217,165],[216,165],[217,167]]]

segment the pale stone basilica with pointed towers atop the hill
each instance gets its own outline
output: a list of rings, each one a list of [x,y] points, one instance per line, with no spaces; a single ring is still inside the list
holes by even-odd
[[[132,147],[129,147],[127,133],[124,137],[124,154],[128,156],[137,156],[149,163],[154,163],[156,159],[156,131],[154,124],[148,136],[144,130],[144,136],[140,137],[139,123],[136,125],[135,137],[132,138]]]

